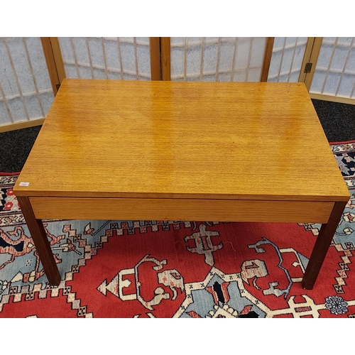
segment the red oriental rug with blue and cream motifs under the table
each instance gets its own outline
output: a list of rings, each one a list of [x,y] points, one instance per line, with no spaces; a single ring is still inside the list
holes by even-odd
[[[355,317],[355,143],[332,150],[351,200],[313,290],[301,280],[319,224],[176,221],[44,221],[62,275],[51,287],[18,174],[1,174],[0,317]]]

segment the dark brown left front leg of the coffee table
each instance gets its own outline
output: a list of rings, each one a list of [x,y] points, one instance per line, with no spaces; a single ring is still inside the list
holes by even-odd
[[[30,231],[35,249],[37,249],[40,262],[43,265],[45,275],[47,275],[50,285],[58,286],[60,284],[60,273],[58,271],[57,263],[53,256],[52,249],[48,241],[47,234],[43,223],[40,219],[35,218],[31,202],[28,197],[18,196],[18,203],[20,204],[21,211],[25,217],[28,230]]]

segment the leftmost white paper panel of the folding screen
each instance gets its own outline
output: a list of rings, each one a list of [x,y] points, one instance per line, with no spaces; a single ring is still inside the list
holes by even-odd
[[[40,38],[0,38],[0,126],[45,117],[53,99]]]

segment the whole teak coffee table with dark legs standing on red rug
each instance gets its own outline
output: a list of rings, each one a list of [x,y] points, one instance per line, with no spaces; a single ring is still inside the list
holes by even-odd
[[[349,192],[303,83],[64,80],[15,194],[41,219],[322,223],[313,288]]]

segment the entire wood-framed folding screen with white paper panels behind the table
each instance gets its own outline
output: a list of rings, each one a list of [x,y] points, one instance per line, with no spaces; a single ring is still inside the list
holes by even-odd
[[[42,124],[65,77],[305,82],[355,103],[354,38],[0,38],[0,132]]]

